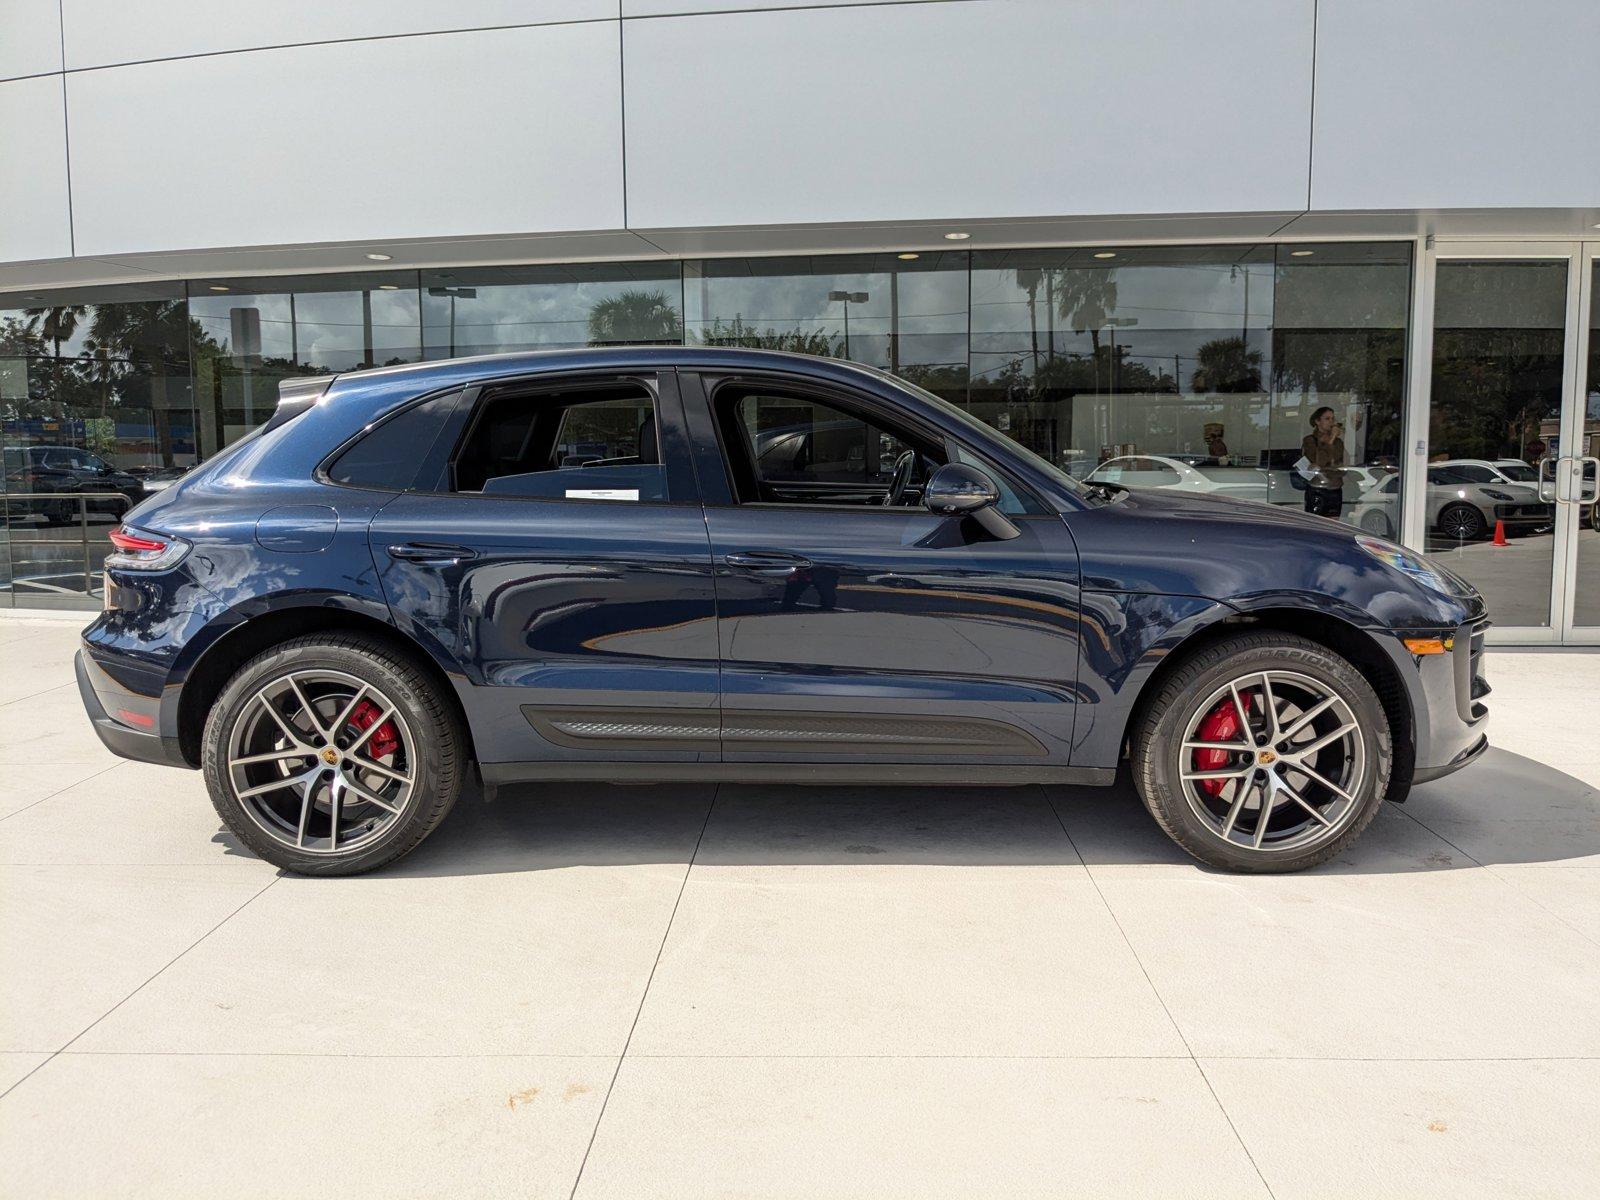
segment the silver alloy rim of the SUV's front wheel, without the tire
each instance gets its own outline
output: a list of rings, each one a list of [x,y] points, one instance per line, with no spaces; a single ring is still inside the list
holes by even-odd
[[[1206,739],[1202,726],[1221,706],[1235,733]],[[1226,758],[1202,765],[1200,754]],[[1270,853],[1338,837],[1360,808],[1366,763],[1366,731],[1350,704],[1296,670],[1224,683],[1195,709],[1178,749],[1184,800],[1203,826],[1234,848]]]

